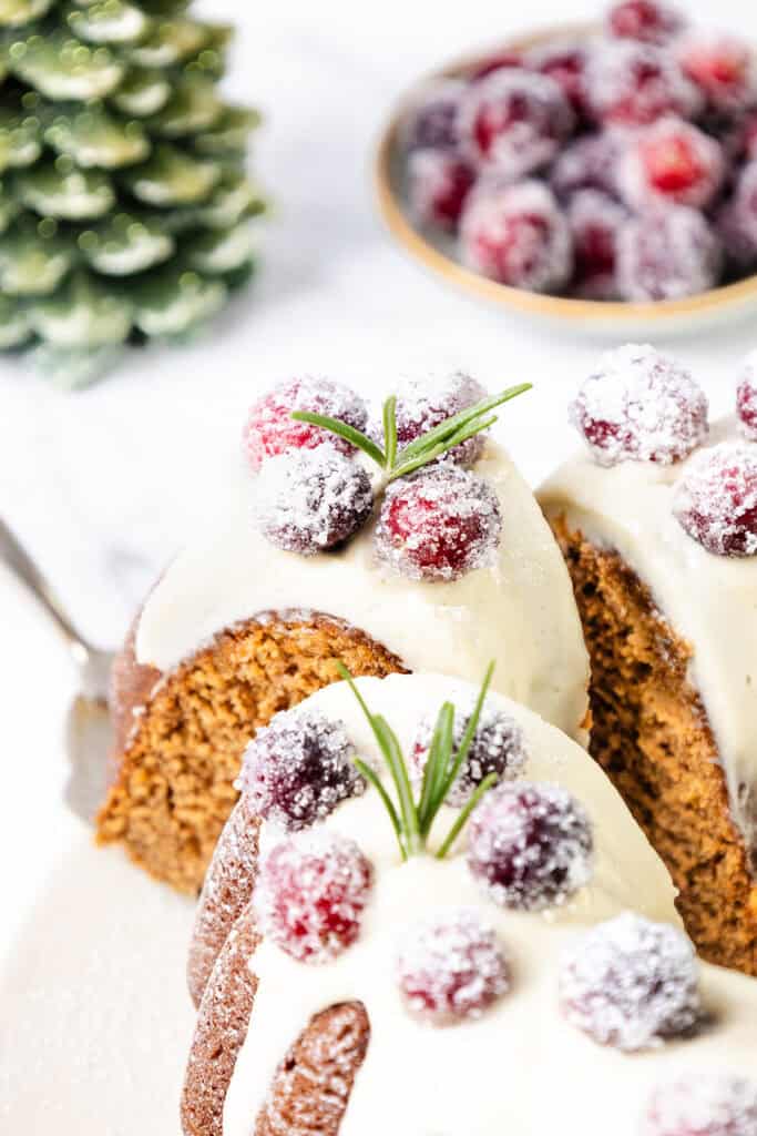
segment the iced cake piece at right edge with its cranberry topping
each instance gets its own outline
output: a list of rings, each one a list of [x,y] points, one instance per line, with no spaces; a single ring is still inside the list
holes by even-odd
[[[591,657],[591,753],[680,891],[701,954],[757,976],[757,389],[708,424],[688,374],[609,353],[571,417],[588,452],[540,500]]]

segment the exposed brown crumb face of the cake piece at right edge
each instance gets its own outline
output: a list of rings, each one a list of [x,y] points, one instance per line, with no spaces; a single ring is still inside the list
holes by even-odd
[[[708,962],[757,976],[757,880],[731,818],[691,646],[614,551],[553,521],[591,658],[591,754],[665,861]]]

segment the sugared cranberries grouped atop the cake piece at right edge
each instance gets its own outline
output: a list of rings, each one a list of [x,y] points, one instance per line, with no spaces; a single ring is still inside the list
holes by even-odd
[[[757,356],[743,366],[737,417],[743,443],[696,454],[679,478],[673,513],[692,540],[723,557],[757,556]],[[673,465],[701,446],[707,400],[688,370],[654,348],[628,344],[603,357],[570,407],[602,466]]]

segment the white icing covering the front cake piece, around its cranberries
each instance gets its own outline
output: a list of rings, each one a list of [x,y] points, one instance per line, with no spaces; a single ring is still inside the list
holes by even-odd
[[[382,713],[406,749],[420,716],[443,701],[463,702],[471,687],[434,675],[361,679],[369,707]],[[705,1006],[715,1025],[701,1036],[633,1056],[603,1049],[561,1017],[560,960],[578,934],[625,909],[678,924],[674,891],[624,803],[583,750],[536,715],[496,703],[520,724],[529,779],[557,782],[595,822],[594,877],[564,908],[544,914],[502,911],[485,896],[457,852],[399,863],[388,818],[369,791],[340,805],[328,827],[355,840],[376,869],[375,891],[358,943],[334,962],[309,967],[271,943],[250,961],[259,977],[250,1030],[224,1114],[224,1136],[251,1136],[278,1062],[310,1018],[361,1001],[370,1019],[340,1136],[638,1136],[644,1103],[685,1072],[755,1075],[757,983],[703,967]],[[370,729],[343,684],[310,705],[342,719],[358,750],[380,761]],[[437,821],[445,833],[452,813]],[[435,828],[436,832],[436,828]],[[268,826],[264,843],[279,834]],[[409,925],[445,908],[472,907],[491,921],[507,952],[512,988],[477,1021],[431,1027],[401,1003],[393,967]]]

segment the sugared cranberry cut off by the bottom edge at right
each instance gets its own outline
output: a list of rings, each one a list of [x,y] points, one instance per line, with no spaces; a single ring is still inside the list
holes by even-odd
[[[757,1081],[697,1070],[661,1086],[642,1136],[757,1136]]]

